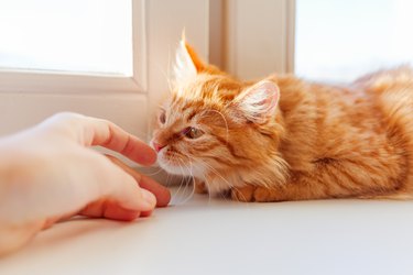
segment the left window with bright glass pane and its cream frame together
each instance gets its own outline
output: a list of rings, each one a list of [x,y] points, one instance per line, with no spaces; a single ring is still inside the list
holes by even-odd
[[[148,140],[184,28],[199,55],[208,56],[208,4],[1,0],[0,135],[75,111]]]

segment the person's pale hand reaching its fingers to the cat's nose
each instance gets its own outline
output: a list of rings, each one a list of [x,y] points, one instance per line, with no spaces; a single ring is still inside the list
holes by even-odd
[[[0,255],[76,215],[131,221],[169,204],[165,187],[94,145],[142,165],[156,160],[116,124],[76,113],[0,139]]]

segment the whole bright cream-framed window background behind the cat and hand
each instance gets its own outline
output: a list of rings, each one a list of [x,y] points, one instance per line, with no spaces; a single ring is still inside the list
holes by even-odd
[[[58,111],[149,140],[183,29],[230,74],[350,81],[413,62],[410,0],[1,0],[0,134]]]

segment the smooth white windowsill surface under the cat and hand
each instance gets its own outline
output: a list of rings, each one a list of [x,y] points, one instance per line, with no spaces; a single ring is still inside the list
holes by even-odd
[[[410,201],[241,204],[195,195],[181,204],[187,195],[175,196],[173,206],[132,223],[80,219],[56,224],[0,260],[0,271],[406,274],[413,270]]]

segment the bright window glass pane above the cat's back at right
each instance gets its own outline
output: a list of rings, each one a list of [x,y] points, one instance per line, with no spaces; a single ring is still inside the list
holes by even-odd
[[[413,62],[413,1],[297,0],[295,73],[351,80]]]

